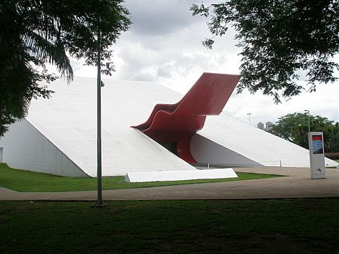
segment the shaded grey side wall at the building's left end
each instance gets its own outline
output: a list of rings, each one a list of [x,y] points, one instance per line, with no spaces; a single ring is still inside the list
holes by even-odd
[[[0,147],[4,149],[4,163],[10,167],[67,177],[87,176],[27,120],[11,125]]]

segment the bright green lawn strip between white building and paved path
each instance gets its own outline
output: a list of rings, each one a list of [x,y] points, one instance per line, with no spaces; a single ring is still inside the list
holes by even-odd
[[[178,184],[199,184],[207,182],[230,182],[248,179],[279,177],[275,174],[250,174],[238,172],[238,178],[200,179],[172,182],[126,183],[124,177],[104,177],[103,189],[131,189]],[[6,164],[0,164],[0,186],[15,191],[94,191],[97,180],[91,177],[59,177],[53,174],[41,174],[27,170],[15,170]]]

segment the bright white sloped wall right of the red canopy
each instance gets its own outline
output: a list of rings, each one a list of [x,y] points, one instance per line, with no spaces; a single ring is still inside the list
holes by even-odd
[[[227,105],[226,105],[227,106]],[[201,136],[266,166],[309,167],[309,151],[222,113],[207,117]],[[325,159],[328,167],[337,165]]]

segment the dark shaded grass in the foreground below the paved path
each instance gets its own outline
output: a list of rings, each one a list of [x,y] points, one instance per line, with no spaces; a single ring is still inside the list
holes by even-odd
[[[335,198],[0,202],[0,253],[338,253]]]

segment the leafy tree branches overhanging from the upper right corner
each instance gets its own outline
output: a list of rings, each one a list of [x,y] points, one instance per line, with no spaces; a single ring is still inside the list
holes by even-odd
[[[211,6],[191,6],[193,15],[210,17],[207,26],[212,39],[236,30],[241,47],[241,81],[238,92],[262,90],[288,98],[300,94],[298,70],[307,72],[309,90],[319,82],[334,82],[338,64],[333,56],[339,49],[339,2],[336,0],[229,0]]]

